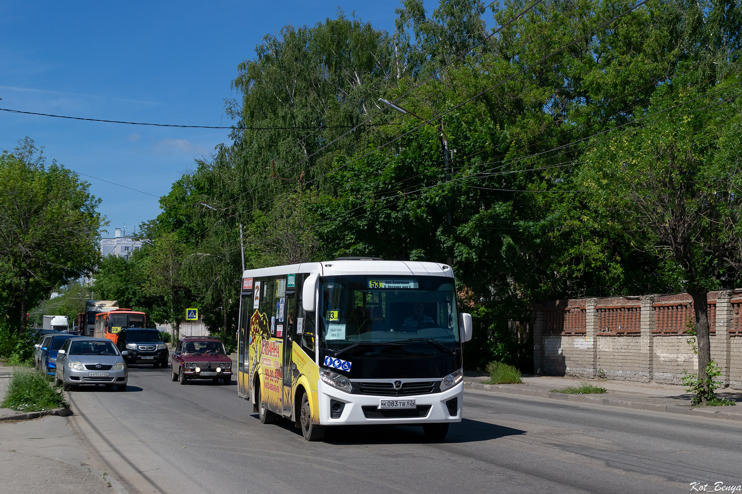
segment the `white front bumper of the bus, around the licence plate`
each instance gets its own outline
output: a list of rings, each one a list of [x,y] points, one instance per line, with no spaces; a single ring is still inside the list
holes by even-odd
[[[423,425],[462,420],[464,383],[441,393],[410,396],[357,395],[318,381],[321,425],[408,424]],[[380,409],[381,401],[415,400],[415,408]],[[340,409],[340,413],[338,413]],[[337,417],[337,418],[335,418]]]

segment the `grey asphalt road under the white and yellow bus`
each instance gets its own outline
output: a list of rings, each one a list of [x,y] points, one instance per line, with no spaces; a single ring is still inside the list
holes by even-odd
[[[686,493],[742,484],[742,424],[467,390],[445,441],[343,427],[304,441],[237,386],[132,367],[126,393],[69,393],[91,466],[134,493]]]

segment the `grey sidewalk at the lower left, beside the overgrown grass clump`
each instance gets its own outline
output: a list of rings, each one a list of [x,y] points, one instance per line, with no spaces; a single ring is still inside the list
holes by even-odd
[[[0,402],[13,367],[0,365]],[[0,417],[16,415],[0,408]],[[48,415],[34,420],[0,420],[0,485],[4,493],[126,494],[115,479],[88,467],[88,452],[75,437],[68,418]]]

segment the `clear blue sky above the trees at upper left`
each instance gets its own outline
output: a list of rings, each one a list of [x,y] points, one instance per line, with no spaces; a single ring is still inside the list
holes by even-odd
[[[229,126],[237,64],[266,33],[314,25],[338,7],[393,30],[397,0],[0,2],[0,108],[91,119]],[[428,12],[438,1],[426,0]],[[99,211],[131,233],[158,197],[229,130],[109,124],[0,111],[0,149],[29,136],[88,176]],[[103,236],[108,236],[105,232]]]

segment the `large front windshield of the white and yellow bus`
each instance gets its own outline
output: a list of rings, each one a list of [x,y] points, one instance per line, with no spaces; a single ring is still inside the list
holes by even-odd
[[[443,276],[328,276],[321,278],[321,347],[459,341],[453,280]]]

